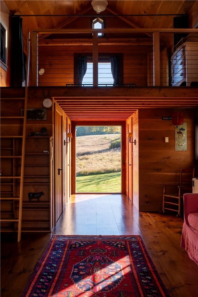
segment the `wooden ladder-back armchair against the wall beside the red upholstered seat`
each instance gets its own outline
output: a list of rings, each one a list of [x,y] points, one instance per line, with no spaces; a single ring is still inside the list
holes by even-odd
[[[192,178],[194,169],[185,170],[180,168],[179,182],[163,184],[162,212],[165,210],[177,212],[181,215],[181,203],[184,193],[192,193]]]

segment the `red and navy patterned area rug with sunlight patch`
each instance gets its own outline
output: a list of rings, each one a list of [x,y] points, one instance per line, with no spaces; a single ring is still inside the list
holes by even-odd
[[[22,297],[170,296],[138,235],[53,235]]]

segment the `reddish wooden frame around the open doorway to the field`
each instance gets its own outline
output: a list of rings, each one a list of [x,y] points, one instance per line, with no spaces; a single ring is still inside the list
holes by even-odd
[[[126,122],[125,121],[72,121],[71,122],[71,194],[75,194],[76,184],[76,150],[75,150],[75,127],[76,126],[121,126],[122,149],[121,149],[121,188],[122,194],[126,194]]]

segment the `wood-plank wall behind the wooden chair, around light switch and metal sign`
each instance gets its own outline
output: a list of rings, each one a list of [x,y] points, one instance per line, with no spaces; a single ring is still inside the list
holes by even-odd
[[[175,127],[171,120],[162,120],[162,117],[172,116],[174,111],[184,112],[184,122],[187,122],[187,151],[175,151]],[[162,184],[177,182],[180,167],[194,166],[194,119],[195,111],[192,109],[141,109],[138,116],[133,116],[134,134],[139,126],[139,137],[133,151],[133,199],[137,207],[139,189],[139,211],[160,211]],[[168,143],[165,143],[165,137],[169,137]],[[136,135],[135,138],[137,139]],[[136,157],[136,149],[139,151],[139,158]]]

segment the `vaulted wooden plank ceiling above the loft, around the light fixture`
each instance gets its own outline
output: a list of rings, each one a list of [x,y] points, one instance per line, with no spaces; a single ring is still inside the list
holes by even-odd
[[[97,15],[84,0],[4,0],[12,15],[23,16],[23,29],[64,28],[71,16]],[[119,15],[135,28],[173,28],[173,15],[188,14],[197,1],[108,0],[100,15]],[[160,16],[161,15],[161,16]],[[172,15],[172,16],[171,16]],[[28,16],[28,17],[27,17]],[[74,17],[72,18],[74,20]]]

